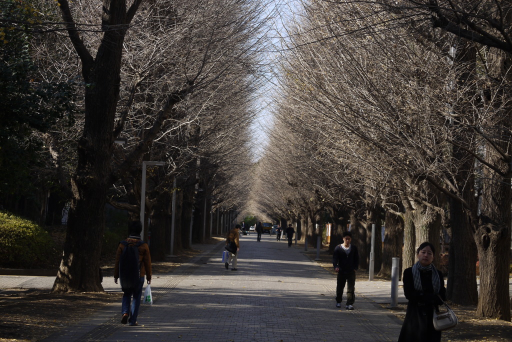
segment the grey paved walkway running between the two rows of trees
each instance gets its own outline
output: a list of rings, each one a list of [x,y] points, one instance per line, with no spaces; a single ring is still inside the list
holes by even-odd
[[[45,341],[396,341],[390,282],[356,282],[354,311],[335,308],[335,276],[297,247],[264,234],[241,237],[238,271],[221,262],[222,243],[172,274],[154,275],[153,306],[139,326],[121,325],[120,303]],[[230,265],[231,268],[231,265]],[[0,288],[51,288],[53,277],[0,276]],[[107,291],[120,291],[111,277]],[[401,292],[401,291],[399,291]],[[403,302],[400,295],[399,302]]]

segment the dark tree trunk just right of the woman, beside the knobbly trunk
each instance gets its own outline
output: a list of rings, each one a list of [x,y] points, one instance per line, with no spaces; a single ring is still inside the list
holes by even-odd
[[[475,110],[475,91],[467,89],[475,78],[476,70],[476,48],[473,42],[460,39],[457,44],[454,64],[457,74],[457,87],[466,96],[465,101],[456,101],[453,104],[454,112],[461,113],[460,117],[471,117]],[[476,90],[476,88],[475,88]],[[465,122],[459,122],[455,117],[451,123],[450,132],[455,141],[453,146],[453,159],[458,167],[452,176],[453,183],[458,189],[458,196],[462,197],[465,203],[474,210],[475,201],[475,158],[466,152],[466,149],[459,146],[472,146],[477,141],[475,134],[463,130]],[[470,147],[474,151],[474,147]],[[446,283],[446,297],[460,305],[475,305],[478,303],[478,289],[476,283],[476,261],[475,253],[468,253],[468,250],[476,250],[473,229],[463,204],[455,199],[450,200],[450,251],[448,254],[448,280]]]

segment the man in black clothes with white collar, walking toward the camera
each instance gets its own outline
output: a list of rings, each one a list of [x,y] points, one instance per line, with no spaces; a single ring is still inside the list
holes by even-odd
[[[343,291],[347,284],[347,302],[345,308],[354,310],[352,304],[355,301],[355,271],[359,267],[359,252],[357,247],[352,245],[352,234],[345,231],[342,235],[343,244],[339,244],[334,248],[332,255],[332,265],[334,271],[338,273],[336,279],[336,308],[342,307]]]

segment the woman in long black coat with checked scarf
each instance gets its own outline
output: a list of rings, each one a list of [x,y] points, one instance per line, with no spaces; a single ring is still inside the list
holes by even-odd
[[[441,332],[434,329],[434,309],[446,300],[443,273],[432,264],[435,249],[430,242],[416,250],[418,262],[403,271],[403,293],[409,300],[398,342],[439,342]],[[439,298],[439,296],[442,298]]]

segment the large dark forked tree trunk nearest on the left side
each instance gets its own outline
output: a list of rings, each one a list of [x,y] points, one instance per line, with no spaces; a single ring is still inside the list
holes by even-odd
[[[62,261],[52,289],[55,292],[103,290],[99,277],[99,256],[106,191],[112,185],[110,172],[114,118],[126,33],[126,28],[108,28],[127,27],[126,20],[129,19],[124,0],[105,1],[103,8],[102,25],[105,31],[94,58],[78,37],[78,31],[73,28],[69,31],[82,61],[83,80],[88,86],[84,87],[84,126],[78,141],[77,167],[71,180],[73,199]],[[62,3],[61,12],[66,21],[72,22],[67,2]]]

